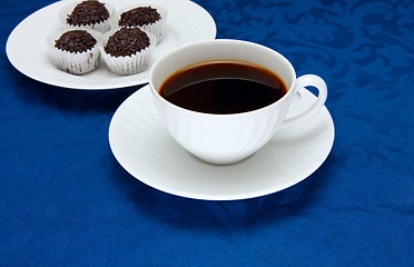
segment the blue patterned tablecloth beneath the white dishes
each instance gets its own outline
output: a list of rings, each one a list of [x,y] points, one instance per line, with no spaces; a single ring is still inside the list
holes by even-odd
[[[9,33],[51,2],[0,2],[0,266],[414,266],[412,0],[196,0],[218,38],[329,89],[326,162],[241,201],[170,196],[119,166],[108,126],[139,88],[56,88],[10,65]]]

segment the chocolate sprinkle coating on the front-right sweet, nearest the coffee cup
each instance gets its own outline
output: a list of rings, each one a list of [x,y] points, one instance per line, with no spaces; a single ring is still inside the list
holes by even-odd
[[[105,51],[112,57],[127,57],[149,47],[146,32],[139,28],[122,28],[109,37]]]

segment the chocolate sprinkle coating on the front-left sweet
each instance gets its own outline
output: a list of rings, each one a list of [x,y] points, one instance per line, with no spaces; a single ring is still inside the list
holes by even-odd
[[[56,48],[69,52],[85,52],[96,43],[97,40],[86,30],[67,31],[55,40]]]

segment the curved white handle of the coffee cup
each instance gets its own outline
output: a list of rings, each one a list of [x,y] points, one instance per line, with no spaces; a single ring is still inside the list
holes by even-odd
[[[325,81],[321,77],[315,76],[315,75],[300,76],[296,80],[296,86],[295,86],[296,92],[295,93],[297,93],[299,90],[308,86],[315,87],[318,90],[318,96],[317,96],[315,103],[310,108],[308,108],[306,111],[304,111],[303,113],[284,120],[279,129],[284,129],[284,128],[300,123],[302,121],[313,116],[316,111],[318,111],[324,106],[326,98],[327,98],[327,87],[326,87]]]

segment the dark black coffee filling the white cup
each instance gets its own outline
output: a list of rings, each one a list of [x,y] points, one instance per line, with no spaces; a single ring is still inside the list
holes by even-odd
[[[160,87],[168,101],[205,113],[239,113],[274,103],[286,95],[272,71],[244,61],[207,61],[171,75]]]

